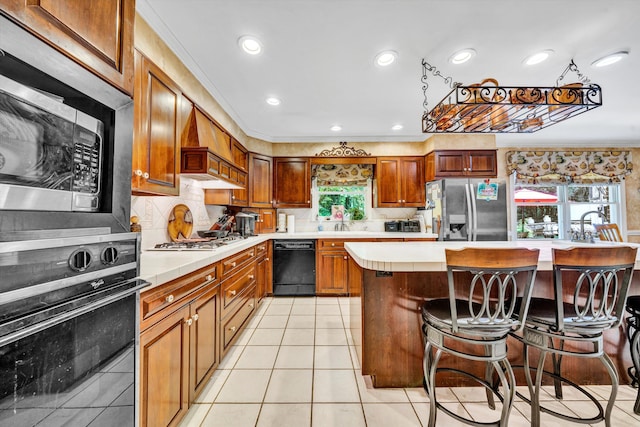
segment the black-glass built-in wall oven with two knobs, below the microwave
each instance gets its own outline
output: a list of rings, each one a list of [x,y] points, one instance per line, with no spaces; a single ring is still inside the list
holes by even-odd
[[[0,425],[136,425],[148,283],[139,233],[108,233],[0,243]]]

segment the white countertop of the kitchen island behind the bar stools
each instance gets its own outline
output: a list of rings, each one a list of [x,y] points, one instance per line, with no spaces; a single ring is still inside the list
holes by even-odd
[[[482,248],[538,248],[539,270],[551,270],[551,248],[593,246],[592,243],[576,243],[564,240],[519,240],[514,242],[347,242],[345,248],[358,265],[376,271],[446,271],[445,249],[463,247]],[[597,243],[599,247],[628,245],[633,243]],[[639,252],[640,257],[640,252]],[[636,259],[636,269],[640,260]]]

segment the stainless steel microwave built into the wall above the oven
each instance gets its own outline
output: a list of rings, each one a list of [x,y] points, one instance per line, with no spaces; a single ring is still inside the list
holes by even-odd
[[[0,210],[99,210],[104,124],[0,75]]]

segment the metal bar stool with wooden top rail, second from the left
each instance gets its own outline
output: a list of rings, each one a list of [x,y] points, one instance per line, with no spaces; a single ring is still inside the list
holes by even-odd
[[[522,337],[516,336],[524,343],[532,426],[540,425],[541,411],[574,422],[604,420],[607,427],[611,426],[611,411],[618,392],[618,373],[604,352],[603,333],[607,329],[617,328],[622,322],[636,251],[636,248],[628,246],[553,249],[555,298],[532,298]],[[529,347],[540,350],[536,368],[529,367]],[[544,370],[547,354],[552,355],[553,372]],[[605,411],[595,396],[562,376],[561,362],[564,356],[597,358],[606,367],[611,377],[611,395]],[[531,378],[531,369],[536,372],[535,383]],[[553,378],[557,399],[562,399],[561,384],[566,383],[589,397],[598,409],[598,415],[592,418],[574,417],[541,406],[543,375]]]

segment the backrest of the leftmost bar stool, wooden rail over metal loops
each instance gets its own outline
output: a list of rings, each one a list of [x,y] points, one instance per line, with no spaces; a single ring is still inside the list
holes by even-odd
[[[486,330],[488,335],[522,329],[535,275],[538,249],[446,249],[452,331]],[[459,317],[456,299],[468,304]]]

